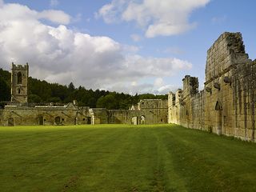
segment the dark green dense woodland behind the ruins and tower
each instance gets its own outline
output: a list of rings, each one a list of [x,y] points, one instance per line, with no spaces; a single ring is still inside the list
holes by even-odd
[[[63,86],[31,77],[28,86],[28,102],[67,103],[77,100],[78,106],[104,107],[109,110],[127,110],[132,104],[137,104],[140,99],[167,99],[167,95],[130,95],[107,90],[86,90],[83,86],[75,87],[72,82],[68,86]],[[10,72],[0,69],[0,102],[6,101],[10,101]]]

